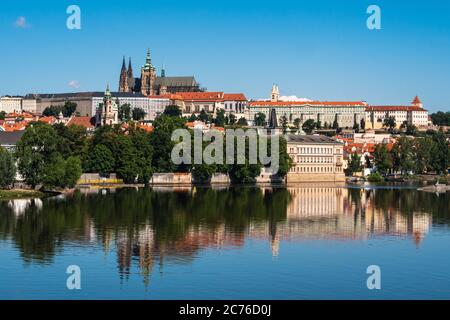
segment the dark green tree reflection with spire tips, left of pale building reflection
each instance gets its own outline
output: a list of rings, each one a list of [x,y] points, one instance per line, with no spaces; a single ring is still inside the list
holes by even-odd
[[[105,250],[115,243],[121,275],[128,276],[136,257],[145,276],[155,257],[187,261],[204,246],[242,244],[249,222],[276,225],[285,219],[288,201],[285,189],[75,192],[44,200],[42,210],[30,204],[20,215],[0,202],[0,239],[11,238],[25,261],[36,262],[51,261],[66,240],[95,240]]]

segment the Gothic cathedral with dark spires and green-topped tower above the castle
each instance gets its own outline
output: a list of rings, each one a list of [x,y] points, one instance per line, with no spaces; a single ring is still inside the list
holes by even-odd
[[[119,92],[141,93],[144,96],[159,96],[177,92],[201,92],[199,83],[193,76],[166,77],[165,69],[161,74],[156,74],[156,68],[152,65],[150,50],[147,50],[145,64],[141,68],[141,75],[135,78],[131,58],[128,68],[125,65],[125,57],[120,70]]]

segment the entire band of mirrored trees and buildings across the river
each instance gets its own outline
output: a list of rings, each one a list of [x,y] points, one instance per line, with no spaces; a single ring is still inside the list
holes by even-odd
[[[25,263],[52,263],[70,242],[116,253],[123,279],[138,266],[148,283],[165,263],[189,263],[206,248],[280,241],[411,238],[450,221],[449,194],[410,189],[293,188],[83,189],[65,198],[0,202],[0,241]]]

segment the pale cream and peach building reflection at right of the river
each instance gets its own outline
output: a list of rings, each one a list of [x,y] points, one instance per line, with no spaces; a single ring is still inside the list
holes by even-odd
[[[287,219],[271,227],[269,222],[251,223],[249,236],[269,239],[272,252],[281,240],[367,239],[377,235],[411,236],[416,245],[428,233],[431,214],[403,214],[396,207],[375,205],[377,190],[333,186],[288,188],[292,200]]]

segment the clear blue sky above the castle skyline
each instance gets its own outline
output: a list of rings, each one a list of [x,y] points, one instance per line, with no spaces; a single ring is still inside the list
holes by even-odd
[[[81,8],[81,30],[66,8]],[[369,5],[381,30],[366,27]],[[21,18],[22,17],[22,18]],[[450,1],[1,1],[0,95],[117,89],[147,47],[167,75],[265,98],[408,104],[450,111]],[[72,86],[69,85],[72,83]],[[78,88],[75,88],[78,87]]]

